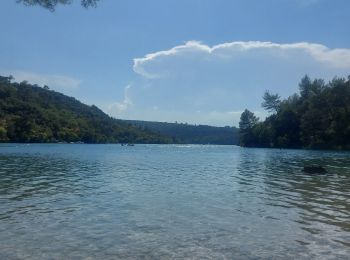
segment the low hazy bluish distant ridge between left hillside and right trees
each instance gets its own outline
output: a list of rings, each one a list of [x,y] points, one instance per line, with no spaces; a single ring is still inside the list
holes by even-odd
[[[239,144],[238,128],[189,125],[178,123],[126,120],[142,129],[171,136],[174,143],[188,144]]]

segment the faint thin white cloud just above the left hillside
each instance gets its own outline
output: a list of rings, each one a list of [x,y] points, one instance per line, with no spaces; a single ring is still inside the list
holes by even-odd
[[[17,82],[28,81],[39,86],[47,85],[53,89],[75,89],[81,81],[63,75],[40,74],[21,70],[1,70],[2,74],[12,75]]]

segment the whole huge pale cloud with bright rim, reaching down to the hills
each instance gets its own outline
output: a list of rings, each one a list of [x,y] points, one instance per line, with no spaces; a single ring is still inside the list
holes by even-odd
[[[265,90],[287,97],[298,91],[305,74],[325,80],[347,76],[350,49],[308,42],[189,41],[135,58],[133,69],[139,118],[237,125],[239,114],[230,111],[248,108],[266,115],[260,106]],[[151,109],[155,105],[158,111]]]

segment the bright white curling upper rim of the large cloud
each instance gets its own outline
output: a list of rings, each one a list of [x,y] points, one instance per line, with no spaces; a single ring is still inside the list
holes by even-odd
[[[157,71],[160,63],[170,59],[185,59],[192,57],[198,59],[206,57],[222,61],[233,60],[237,55],[249,55],[258,53],[265,58],[280,58],[293,60],[295,56],[304,56],[310,61],[319,63],[326,67],[349,69],[350,49],[330,49],[322,44],[299,42],[290,44],[279,44],[260,41],[236,41],[214,45],[212,47],[198,41],[189,41],[183,45],[175,46],[169,50],[158,51],[145,55],[142,58],[135,58],[133,69],[136,73],[149,78],[156,79],[166,76],[165,70]],[[199,54],[199,55],[198,55]],[[153,67],[152,67],[153,66]],[[156,68],[156,69],[154,69]]]

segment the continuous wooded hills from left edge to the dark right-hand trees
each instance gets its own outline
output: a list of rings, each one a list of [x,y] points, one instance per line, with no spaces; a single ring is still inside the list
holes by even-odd
[[[238,129],[120,120],[96,106],[0,76],[0,142],[238,144]]]

